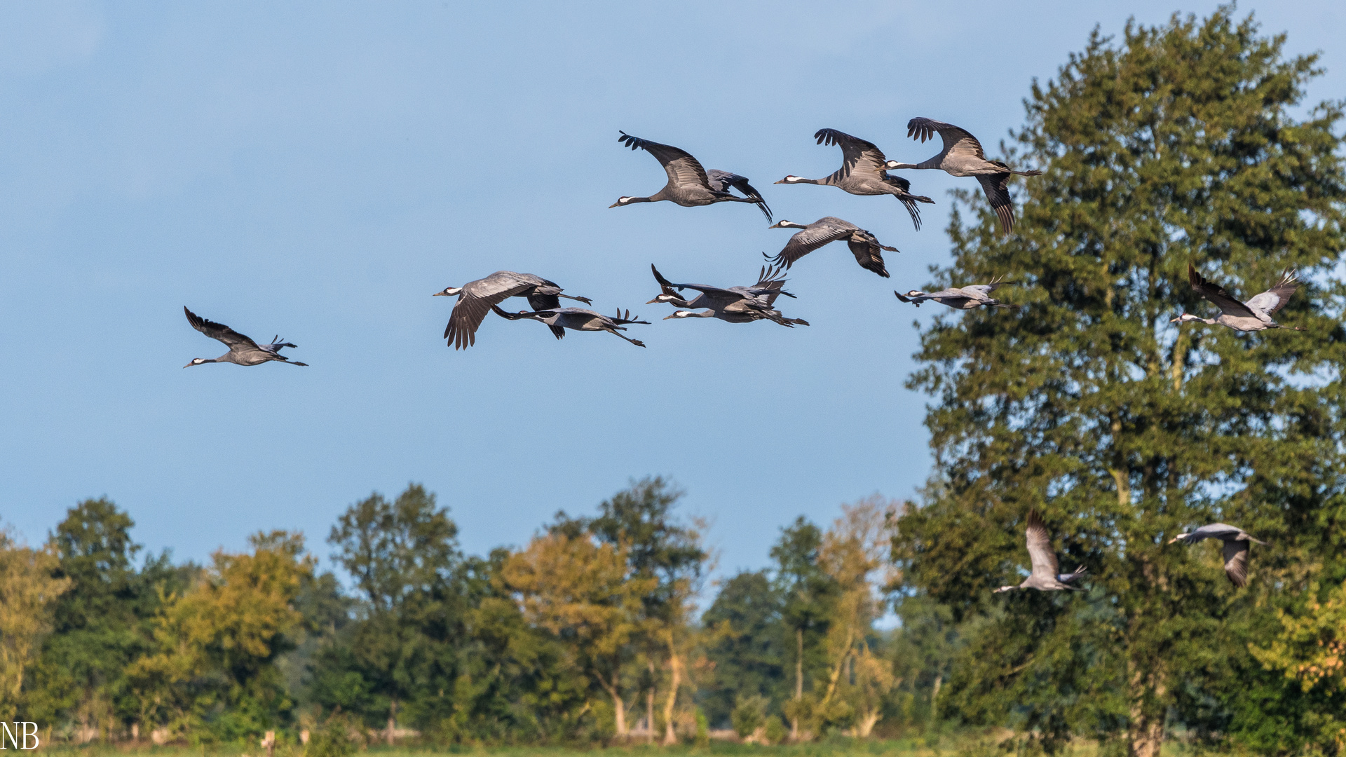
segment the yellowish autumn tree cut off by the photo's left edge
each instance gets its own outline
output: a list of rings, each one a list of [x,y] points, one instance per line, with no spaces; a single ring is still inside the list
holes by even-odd
[[[52,550],[20,546],[0,529],[0,721],[19,715],[24,675],[51,628],[55,599],[70,587],[52,577],[57,566]]]

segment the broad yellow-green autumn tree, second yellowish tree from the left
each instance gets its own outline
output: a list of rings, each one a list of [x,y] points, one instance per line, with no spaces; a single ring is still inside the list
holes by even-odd
[[[166,602],[155,629],[159,651],[131,671],[145,721],[232,741],[273,729],[292,707],[276,659],[303,622],[293,603],[314,559],[296,533],[249,541],[252,554],[215,552],[201,581]]]

